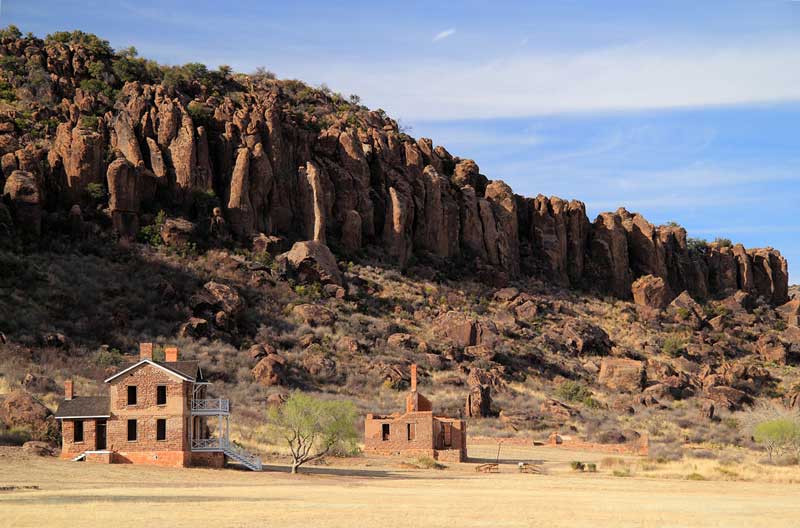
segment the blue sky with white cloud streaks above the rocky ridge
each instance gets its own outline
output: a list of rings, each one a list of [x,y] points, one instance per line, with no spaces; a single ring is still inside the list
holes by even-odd
[[[357,93],[516,192],[772,246],[800,282],[800,2],[0,1],[25,32]]]

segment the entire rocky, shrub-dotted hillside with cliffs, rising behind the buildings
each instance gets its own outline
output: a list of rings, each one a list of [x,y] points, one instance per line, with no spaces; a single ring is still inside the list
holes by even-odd
[[[14,28],[0,61],[5,392],[101,390],[154,341],[200,359],[256,447],[273,395],[388,411],[412,361],[487,434],[747,444],[730,413],[798,402],[777,250],[515,195],[357,97],[267,71]]]

